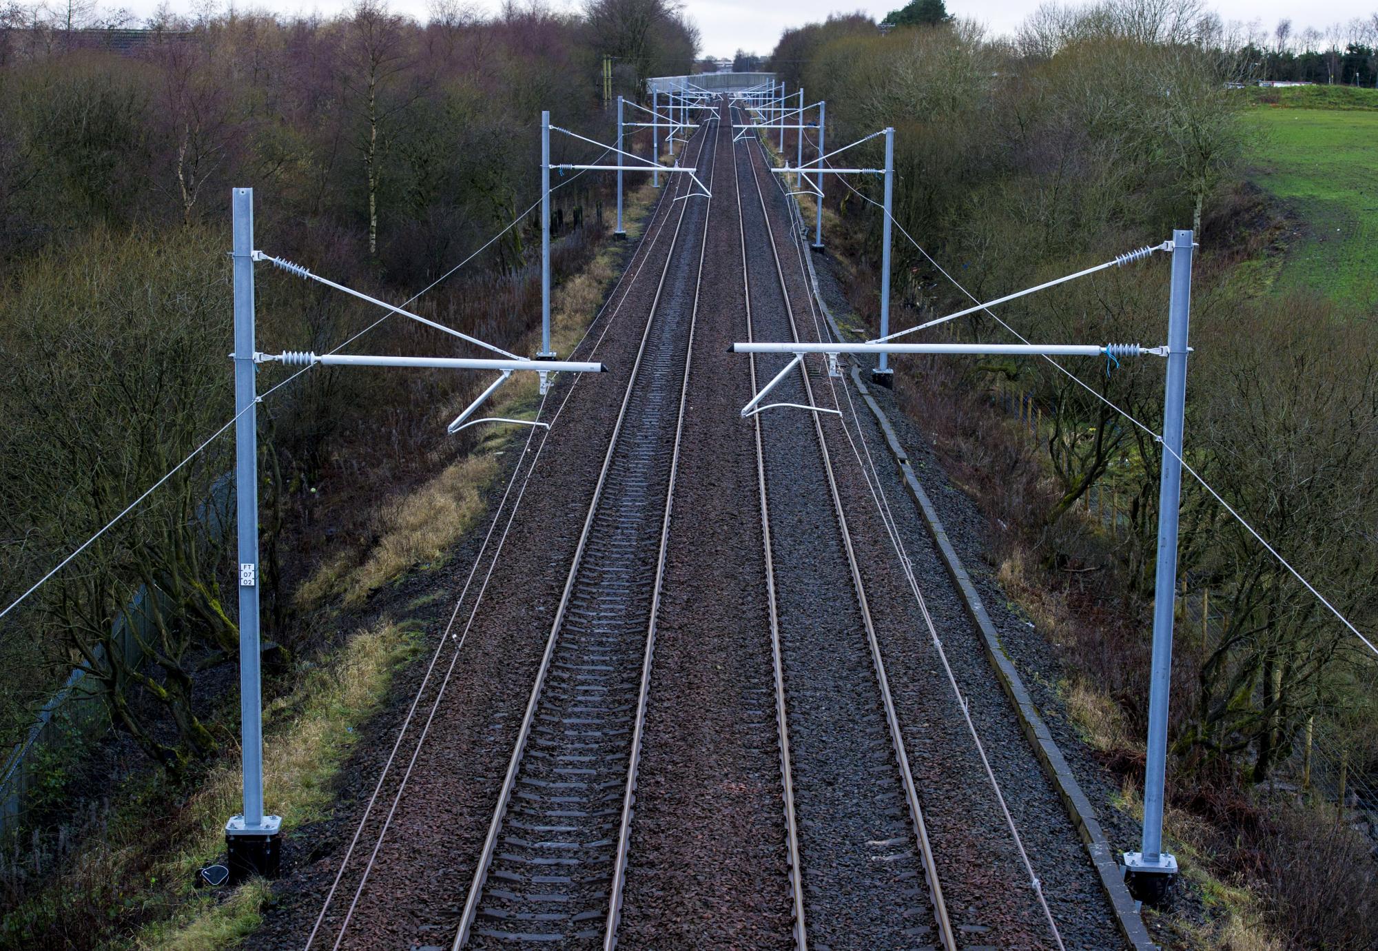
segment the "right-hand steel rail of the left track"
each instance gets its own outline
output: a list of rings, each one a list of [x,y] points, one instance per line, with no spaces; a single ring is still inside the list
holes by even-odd
[[[715,120],[708,120],[714,121]],[[627,786],[621,799],[621,819],[617,826],[617,853],[613,859],[613,877],[608,901],[608,921],[604,928],[604,951],[617,947],[617,926],[621,923],[621,896],[627,885],[627,857],[631,849],[631,819],[637,805],[637,769],[641,765],[641,746],[645,736],[646,706],[650,700],[650,666],[656,652],[656,619],[660,613],[660,591],[666,577],[666,555],[670,551],[670,515],[675,500],[675,477],[679,473],[679,441],[685,429],[685,408],[689,405],[689,375],[693,365],[693,335],[699,321],[699,292],[703,288],[703,262],[708,252],[708,222],[712,219],[712,179],[718,170],[719,124],[712,131],[712,165],[708,171],[708,205],[703,212],[703,238],[699,243],[699,272],[695,274],[693,307],[689,311],[689,346],[685,350],[683,382],[679,385],[679,418],[675,420],[675,444],[670,458],[670,482],[666,487],[666,513],[660,522],[660,553],[656,558],[656,584],[650,595],[650,619],[646,630],[646,653],[641,664],[641,689],[637,697],[637,721],[631,733],[631,753],[627,761]],[[699,145],[699,157],[707,147],[707,134]],[[688,207],[688,205],[686,205]],[[671,248],[672,251],[672,248]],[[668,269],[668,262],[667,262]],[[657,292],[659,296],[659,292]],[[655,305],[652,305],[655,310]]]

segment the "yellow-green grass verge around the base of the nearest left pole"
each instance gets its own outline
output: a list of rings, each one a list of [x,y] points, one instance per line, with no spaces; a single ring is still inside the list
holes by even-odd
[[[328,812],[356,725],[387,696],[419,642],[415,628],[380,620],[347,638],[328,663],[299,662],[291,686],[265,708],[266,797],[284,828]],[[136,772],[110,791],[103,809],[59,837],[80,845],[26,856],[29,896],[6,915],[0,944],[197,950],[230,947],[248,934],[271,900],[266,882],[196,888],[197,870],[223,856],[225,820],[240,802],[238,764],[226,757],[197,779],[196,791],[178,799],[161,773]],[[18,857],[7,860],[7,885],[19,866]]]

